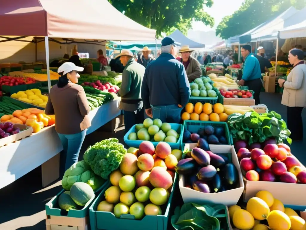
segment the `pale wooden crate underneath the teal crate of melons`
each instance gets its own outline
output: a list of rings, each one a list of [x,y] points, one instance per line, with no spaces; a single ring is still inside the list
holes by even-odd
[[[46,230],[90,230],[89,217],[47,216]]]

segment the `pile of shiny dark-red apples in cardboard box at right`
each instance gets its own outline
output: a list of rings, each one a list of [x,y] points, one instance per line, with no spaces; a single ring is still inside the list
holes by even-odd
[[[249,181],[306,184],[306,170],[286,144],[267,144],[263,150],[240,148],[237,157],[242,173]]]

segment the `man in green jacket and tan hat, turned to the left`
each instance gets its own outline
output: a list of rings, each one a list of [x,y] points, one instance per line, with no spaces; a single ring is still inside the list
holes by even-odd
[[[125,133],[127,133],[133,125],[144,121],[140,90],[146,68],[136,62],[133,53],[129,50],[121,50],[117,58],[120,58],[120,62],[125,67],[118,95],[121,96],[119,108],[123,110]]]

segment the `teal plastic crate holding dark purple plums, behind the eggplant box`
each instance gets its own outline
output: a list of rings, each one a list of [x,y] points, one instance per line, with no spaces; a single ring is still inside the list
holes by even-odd
[[[224,128],[225,132],[225,138],[227,140],[227,144],[232,145],[233,144],[233,137],[230,134],[229,127],[226,122],[221,121],[190,121],[186,120],[184,121],[183,130],[188,130],[189,132],[198,132],[200,128],[204,128],[207,125],[211,125],[212,127],[222,127]],[[184,134],[183,131],[183,134]],[[181,146],[183,143],[183,137],[181,139]]]

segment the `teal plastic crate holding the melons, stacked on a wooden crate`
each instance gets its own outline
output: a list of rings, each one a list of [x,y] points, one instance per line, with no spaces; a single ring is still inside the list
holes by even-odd
[[[80,210],[69,210],[68,212],[66,210],[60,209],[58,206],[58,197],[65,192],[66,190],[60,191],[55,197],[53,197],[46,205],[46,215],[47,216],[58,216],[58,217],[76,217],[76,218],[84,218],[88,216],[88,209],[92,202],[95,200],[96,194],[99,194],[105,186],[109,185],[109,181],[106,181],[103,186],[101,186],[96,192],[94,197],[90,199],[90,201],[87,202],[87,204]]]

